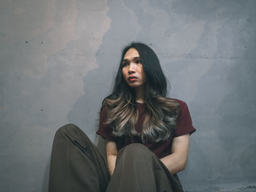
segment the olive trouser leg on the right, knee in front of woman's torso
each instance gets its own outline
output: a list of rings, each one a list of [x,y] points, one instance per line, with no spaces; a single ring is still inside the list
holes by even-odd
[[[183,191],[162,161],[145,145],[131,144],[118,152],[107,192]]]

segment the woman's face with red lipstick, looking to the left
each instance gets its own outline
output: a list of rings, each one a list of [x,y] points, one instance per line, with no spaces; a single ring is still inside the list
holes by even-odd
[[[131,88],[143,88],[146,74],[140,61],[140,55],[135,48],[130,48],[124,55],[122,62],[123,77]]]

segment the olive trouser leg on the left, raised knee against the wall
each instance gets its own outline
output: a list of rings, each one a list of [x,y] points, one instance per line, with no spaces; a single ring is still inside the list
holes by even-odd
[[[49,191],[105,191],[110,180],[104,155],[73,124],[59,128],[53,141]]]

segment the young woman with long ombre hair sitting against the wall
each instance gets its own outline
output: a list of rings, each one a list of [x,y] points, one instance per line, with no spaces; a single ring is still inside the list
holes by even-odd
[[[187,104],[166,94],[154,51],[139,42],[125,47],[99,115],[106,158],[77,126],[59,128],[49,191],[183,191],[176,173],[185,169],[195,128]]]

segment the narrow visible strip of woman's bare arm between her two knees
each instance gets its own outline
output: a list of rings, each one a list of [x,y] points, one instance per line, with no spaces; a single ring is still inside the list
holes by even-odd
[[[112,176],[115,166],[116,166],[116,156],[118,153],[116,142],[111,142],[108,139],[106,141],[106,155],[107,155],[107,163],[110,176]]]

